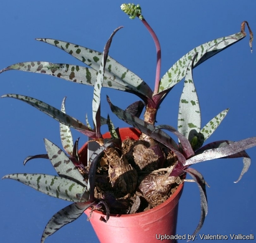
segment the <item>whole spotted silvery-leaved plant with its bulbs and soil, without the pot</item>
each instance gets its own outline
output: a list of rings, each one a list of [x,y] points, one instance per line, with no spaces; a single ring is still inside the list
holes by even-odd
[[[169,197],[171,189],[186,180],[186,173],[192,177],[192,181],[197,183],[201,196],[201,218],[193,233],[195,235],[201,229],[207,214],[205,190],[207,184],[202,174],[190,168],[190,165],[217,158],[242,157],[244,167],[236,182],[249,168],[251,160],[245,149],[256,146],[256,137],[237,142],[220,140],[203,146],[205,140],[225,118],[228,109],[221,111],[202,128],[201,111],[192,76],[193,68],[242,40],[246,35],[245,24],[250,32],[251,47],[253,35],[248,23],[244,21],[238,33],[195,47],[160,78],[161,49],[155,32],[141,15],[139,5],[122,4],[121,9],[131,19],[138,17],[154,39],[157,50],[154,91],[136,74],[108,56],[112,38],[122,27],[113,32],[103,53],[64,41],[36,39],[61,48],[88,67],[49,62],[24,62],[0,71],[0,73],[8,70],[42,73],[74,83],[94,86],[93,128],[89,125],[88,119],[85,125],[66,114],[65,98],[59,110],[24,95],[6,94],[2,96],[24,101],[60,122],[61,142],[68,156],[53,142],[45,139],[47,154],[29,156],[24,160],[26,164],[31,159],[50,159],[58,176],[9,174],[3,177],[15,179],[47,195],[73,202],[53,215],[45,227],[41,243],[62,226],[77,219],[88,207],[92,207],[92,210],[105,211],[106,218],[101,218],[105,222],[108,221],[110,213],[131,214],[153,208]],[[156,114],[161,102],[174,85],[183,78],[184,87],[179,105],[178,129],[170,125],[155,126]],[[123,110],[112,104],[110,98],[107,97],[112,112],[141,131],[139,140],[132,141],[131,145],[126,144],[128,146],[126,150],[123,148],[124,143],[122,145],[120,140],[118,128],[114,128],[109,117],[105,119],[100,115],[102,87],[126,91],[141,99]],[[144,107],[144,119],[142,120],[139,116]],[[111,134],[111,139],[107,141],[103,139],[100,132],[101,126],[105,124],[108,125]],[[70,127],[100,145],[89,161],[81,160],[78,153],[78,140],[73,143]],[[176,143],[163,130],[173,133],[178,137],[179,142]]]

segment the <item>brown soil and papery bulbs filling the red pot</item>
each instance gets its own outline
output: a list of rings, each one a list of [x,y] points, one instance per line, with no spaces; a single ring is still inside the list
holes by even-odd
[[[139,213],[154,208],[183,182],[179,177],[169,176],[177,157],[166,147],[157,146],[162,155],[159,148],[147,148],[142,140],[126,139],[122,142],[122,155],[110,148],[98,160],[95,198],[104,199],[111,214]],[[140,157],[145,163],[137,162]]]

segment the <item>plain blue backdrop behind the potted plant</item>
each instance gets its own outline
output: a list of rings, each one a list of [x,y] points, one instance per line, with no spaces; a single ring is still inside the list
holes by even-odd
[[[155,4],[158,2],[156,6]],[[4,1],[1,4],[0,68],[25,61],[49,61],[82,65],[62,50],[34,38],[54,38],[102,51],[112,31],[110,56],[139,75],[154,88],[156,53],[154,42],[138,19],[130,20],[120,10],[122,1]],[[192,48],[218,37],[240,31],[247,20],[256,33],[256,2],[242,1],[139,1],[142,14],[155,30],[162,48],[161,76]],[[248,34],[248,30],[246,29]],[[217,131],[207,142],[241,140],[256,136],[255,53],[249,37],[229,47],[194,69],[194,82],[202,110],[202,126],[225,108],[230,108]],[[256,48],[256,43],[254,43]],[[158,124],[177,127],[178,105],[183,84],[175,86],[160,106]],[[0,75],[1,95],[17,93],[60,107],[67,96],[66,111],[92,122],[93,89],[47,75],[11,71]],[[135,95],[103,89],[102,115],[111,113],[105,102],[126,108],[138,100]],[[28,155],[45,153],[43,138],[61,146],[59,124],[35,108],[14,100],[0,100],[0,177],[10,173],[55,174],[49,161],[37,159],[23,166]],[[111,114],[116,126],[126,124]],[[106,129],[106,128],[104,128]],[[104,132],[104,130],[102,130]],[[78,132],[73,137],[87,138]],[[80,145],[82,144],[80,143]],[[235,184],[242,159],[217,159],[193,166],[211,186],[207,188],[209,213],[200,234],[255,234],[256,237],[256,148],[247,151],[252,159],[249,171]],[[13,180],[0,181],[0,242],[40,242],[51,216],[69,203],[36,192]],[[192,234],[199,221],[200,197],[195,183],[185,183],[179,205],[177,234]],[[86,216],[63,227],[46,242],[98,242]],[[200,241],[198,234],[197,241]],[[229,240],[225,242],[231,242]],[[181,240],[179,241],[181,242]],[[185,242],[185,241],[184,241]],[[211,242],[215,242],[214,240]],[[236,241],[239,242],[239,241]]]

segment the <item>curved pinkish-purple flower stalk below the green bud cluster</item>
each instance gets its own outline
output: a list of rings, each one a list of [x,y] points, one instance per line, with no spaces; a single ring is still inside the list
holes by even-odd
[[[148,22],[143,18],[142,23],[145,25],[145,27],[148,29],[149,33],[151,34],[155,45],[156,45],[156,50],[157,50],[157,68],[156,68],[156,80],[155,80],[155,89],[154,89],[154,93],[153,95],[156,95],[158,93],[158,89],[159,89],[159,82],[160,82],[160,69],[161,69],[161,47],[160,47],[160,43],[159,40],[157,38],[156,33],[154,32],[154,30],[150,27],[150,25],[148,24]]]

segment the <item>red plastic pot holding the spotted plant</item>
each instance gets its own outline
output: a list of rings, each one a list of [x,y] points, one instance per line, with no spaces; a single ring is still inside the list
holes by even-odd
[[[121,128],[121,139],[127,137],[138,139],[140,132],[135,128]],[[110,138],[106,133],[103,138]],[[80,150],[80,153],[87,153],[87,144]],[[87,155],[86,155],[87,156]],[[183,184],[179,185],[175,193],[159,206],[146,212],[131,215],[110,215],[107,223],[100,220],[106,214],[100,211],[93,211],[90,222],[101,243],[154,243],[163,242],[174,243],[176,240],[170,239],[176,234],[178,204],[181,197]],[[85,210],[87,216],[90,215],[91,208]]]

